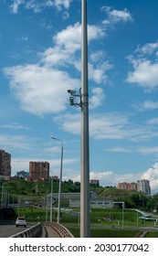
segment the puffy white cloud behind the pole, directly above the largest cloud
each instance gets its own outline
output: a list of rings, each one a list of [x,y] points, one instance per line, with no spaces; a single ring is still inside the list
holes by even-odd
[[[104,36],[103,30],[96,26],[89,26],[88,33],[89,43],[91,40],[100,39],[100,37]],[[66,29],[58,32],[53,37],[53,41],[55,46],[53,48],[47,48],[42,54],[42,61],[46,65],[76,65],[75,63],[78,63],[78,60],[75,59],[75,54],[81,48],[81,26],[79,23],[76,23],[74,26],[68,26]]]

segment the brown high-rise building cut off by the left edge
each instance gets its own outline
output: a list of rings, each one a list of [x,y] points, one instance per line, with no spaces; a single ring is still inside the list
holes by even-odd
[[[11,155],[0,149],[0,176],[11,176]]]

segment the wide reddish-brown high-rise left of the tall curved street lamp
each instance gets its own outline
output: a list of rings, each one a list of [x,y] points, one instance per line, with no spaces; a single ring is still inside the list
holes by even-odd
[[[49,163],[29,162],[29,177],[32,180],[47,180],[49,177]]]

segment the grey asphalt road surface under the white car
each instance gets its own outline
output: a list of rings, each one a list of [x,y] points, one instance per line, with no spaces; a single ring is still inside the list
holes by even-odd
[[[15,223],[2,223],[0,222],[0,238],[8,238],[16,233],[20,233],[26,229],[29,229],[32,225],[27,225],[26,228],[18,227],[16,228]]]

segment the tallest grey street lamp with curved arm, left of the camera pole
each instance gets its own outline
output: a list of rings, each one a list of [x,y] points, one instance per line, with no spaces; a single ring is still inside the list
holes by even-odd
[[[60,205],[61,205],[61,181],[62,181],[62,163],[63,163],[63,142],[58,138],[50,136],[51,139],[57,140],[61,143],[61,162],[60,162],[60,176],[59,176],[59,187],[58,187],[58,223],[60,219]]]

